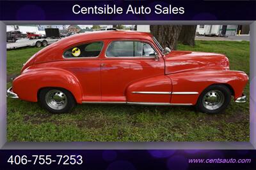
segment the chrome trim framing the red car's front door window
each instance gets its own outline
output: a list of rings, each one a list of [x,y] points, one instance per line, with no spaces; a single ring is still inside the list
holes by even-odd
[[[138,56],[136,56],[136,57],[108,57],[107,55],[106,55],[106,52],[108,51],[108,48],[109,48],[109,45],[111,45],[111,43],[113,43],[113,42],[115,42],[115,41],[138,41],[138,42],[140,42],[140,43],[147,43],[148,45],[150,45],[152,48],[153,48],[153,50],[157,53],[157,50],[154,48],[154,46],[152,46],[150,43],[148,43],[148,42],[146,42],[146,41],[143,41],[143,40],[138,40],[138,39],[118,39],[118,40],[112,40],[112,41],[110,41],[109,43],[108,43],[108,46],[107,46],[107,48],[106,48],[106,50],[105,50],[105,54],[104,54],[104,56],[106,57],[106,58],[109,58],[109,59],[121,59],[121,58],[124,58],[124,59],[154,59],[155,58],[155,56],[147,56],[147,55],[143,55],[142,54],[142,51],[141,51],[141,56],[140,57],[138,57]],[[141,50],[143,50],[143,45],[141,46]],[[158,53],[157,53],[158,54]]]

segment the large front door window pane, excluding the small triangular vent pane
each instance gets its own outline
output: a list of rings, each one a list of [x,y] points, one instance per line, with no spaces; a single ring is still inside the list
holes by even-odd
[[[141,57],[142,43],[139,41],[113,41],[106,51],[107,57]]]

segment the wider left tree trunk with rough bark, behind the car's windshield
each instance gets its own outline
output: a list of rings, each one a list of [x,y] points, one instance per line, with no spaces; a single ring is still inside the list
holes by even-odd
[[[150,32],[163,48],[176,50],[181,28],[181,25],[150,25]]]

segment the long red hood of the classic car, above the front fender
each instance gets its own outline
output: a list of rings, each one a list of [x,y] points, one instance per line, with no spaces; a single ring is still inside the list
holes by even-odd
[[[229,69],[227,57],[219,53],[172,51],[164,55],[165,73],[195,69]]]

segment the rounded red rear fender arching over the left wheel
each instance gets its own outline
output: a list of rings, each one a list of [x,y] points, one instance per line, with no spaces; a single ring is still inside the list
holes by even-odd
[[[74,74],[58,68],[26,70],[13,81],[13,92],[25,101],[37,102],[38,90],[60,87],[70,91],[77,103],[82,103],[83,92]]]

